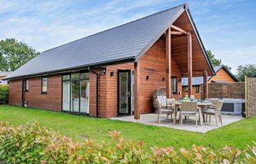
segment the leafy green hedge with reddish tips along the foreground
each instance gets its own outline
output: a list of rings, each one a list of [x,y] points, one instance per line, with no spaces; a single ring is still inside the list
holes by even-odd
[[[143,148],[143,141],[125,141],[110,132],[115,145],[72,141],[37,122],[14,127],[0,122],[0,163],[256,163],[256,144],[244,151],[233,147],[178,149]],[[238,162],[238,157],[239,162]]]

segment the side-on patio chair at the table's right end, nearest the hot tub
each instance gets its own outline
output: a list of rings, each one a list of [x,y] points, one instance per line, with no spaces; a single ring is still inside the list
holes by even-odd
[[[219,117],[219,122],[222,125],[222,105],[223,101],[215,101],[212,102],[213,104],[211,106],[208,106],[206,110],[203,110],[203,114],[206,114],[206,122],[207,122],[207,116],[209,116],[209,123],[211,122],[211,115],[215,116],[216,125],[218,127],[218,121],[217,117]]]

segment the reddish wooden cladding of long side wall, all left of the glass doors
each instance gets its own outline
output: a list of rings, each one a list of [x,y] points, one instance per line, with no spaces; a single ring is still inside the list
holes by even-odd
[[[22,79],[10,81],[10,105],[22,105]],[[29,78],[29,90],[23,92],[29,107],[61,111],[61,74],[48,76],[47,94],[42,94],[41,77]]]

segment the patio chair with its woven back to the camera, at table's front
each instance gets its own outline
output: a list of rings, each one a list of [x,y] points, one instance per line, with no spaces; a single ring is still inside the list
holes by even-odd
[[[182,117],[183,116],[195,116],[195,126],[197,127],[197,121],[198,121],[198,109],[197,109],[197,102],[189,102],[189,101],[183,101],[181,102],[181,114],[180,114],[180,120],[181,120],[181,126],[182,126]]]

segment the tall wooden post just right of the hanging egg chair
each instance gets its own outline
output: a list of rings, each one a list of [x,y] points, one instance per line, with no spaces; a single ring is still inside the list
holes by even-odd
[[[170,28],[166,31],[165,50],[166,50],[166,98],[171,98],[171,47],[170,47]]]

